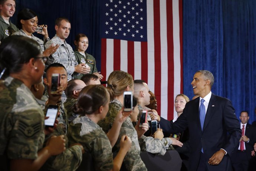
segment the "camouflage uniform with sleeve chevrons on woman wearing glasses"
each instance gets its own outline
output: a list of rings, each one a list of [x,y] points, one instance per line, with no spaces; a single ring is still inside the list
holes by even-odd
[[[0,155],[34,160],[45,139],[44,113],[20,80],[7,77],[1,84]]]

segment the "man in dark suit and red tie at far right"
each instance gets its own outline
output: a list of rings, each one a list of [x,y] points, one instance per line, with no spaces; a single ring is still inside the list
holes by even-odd
[[[249,115],[247,111],[242,111],[240,113],[240,128],[242,130],[242,137],[240,138],[240,143],[232,155],[232,166],[234,171],[253,171],[253,159],[255,152],[253,145],[256,138],[256,130],[252,125],[248,123]]]

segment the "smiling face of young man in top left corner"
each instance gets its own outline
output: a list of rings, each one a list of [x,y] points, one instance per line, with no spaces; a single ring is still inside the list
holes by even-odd
[[[16,4],[14,0],[4,1],[4,3],[0,5],[1,16],[6,18],[12,17],[15,12],[15,7],[16,7]]]

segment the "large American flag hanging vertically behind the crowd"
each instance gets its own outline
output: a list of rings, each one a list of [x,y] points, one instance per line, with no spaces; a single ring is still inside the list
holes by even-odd
[[[183,92],[182,0],[102,1],[101,72],[122,70],[145,80],[158,114],[172,120]]]

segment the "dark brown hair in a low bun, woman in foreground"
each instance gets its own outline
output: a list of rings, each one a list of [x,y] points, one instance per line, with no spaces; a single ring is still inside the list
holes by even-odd
[[[92,114],[108,103],[108,91],[102,85],[89,85],[79,93],[73,112],[80,115]]]

